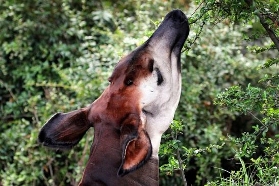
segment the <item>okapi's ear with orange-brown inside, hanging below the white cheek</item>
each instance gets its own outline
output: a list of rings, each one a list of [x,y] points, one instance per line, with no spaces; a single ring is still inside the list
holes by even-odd
[[[121,124],[122,164],[117,175],[124,176],[141,167],[150,157],[152,146],[143,123],[137,115],[129,115]]]

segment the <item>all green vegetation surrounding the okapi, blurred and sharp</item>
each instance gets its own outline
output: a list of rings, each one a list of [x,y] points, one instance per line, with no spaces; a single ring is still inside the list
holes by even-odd
[[[61,151],[40,127],[95,100],[174,8],[191,32],[160,185],[279,184],[277,1],[0,0],[0,185],[78,184],[93,129]]]

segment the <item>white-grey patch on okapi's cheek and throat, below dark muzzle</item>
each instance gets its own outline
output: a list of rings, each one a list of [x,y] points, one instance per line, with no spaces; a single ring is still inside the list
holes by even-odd
[[[162,52],[162,51],[161,51]],[[147,118],[146,130],[151,140],[154,157],[158,157],[161,137],[174,116],[181,94],[181,73],[177,68],[177,58],[153,53],[154,69],[158,68],[163,76],[163,83],[157,85],[157,72],[143,79],[140,84],[141,108]],[[170,59],[169,59],[170,58]]]

